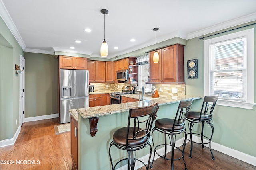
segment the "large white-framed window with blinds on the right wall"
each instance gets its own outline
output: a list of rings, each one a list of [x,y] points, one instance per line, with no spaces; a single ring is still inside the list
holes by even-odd
[[[205,96],[217,104],[252,109],[254,105],[254,29],[205,41]]]

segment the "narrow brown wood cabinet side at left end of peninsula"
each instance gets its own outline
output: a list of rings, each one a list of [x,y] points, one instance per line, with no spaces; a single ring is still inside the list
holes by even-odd
[[[78,122],[70,116],[71,158],[72,167],[78,170]]]

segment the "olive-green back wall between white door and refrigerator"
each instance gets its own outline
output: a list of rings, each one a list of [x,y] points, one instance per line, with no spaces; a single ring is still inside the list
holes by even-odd
[[[56,114],[58,59],[28,52],[24,58],[25,117]]]

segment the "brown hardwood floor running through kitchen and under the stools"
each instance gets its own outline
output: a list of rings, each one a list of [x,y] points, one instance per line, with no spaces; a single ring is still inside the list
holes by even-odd
[[[15,145],[0,148],[0,160],[14,161],[15,164],[0,164],[0,170],[71,170],[70,132],[55,135],[54,125],[58,124],[56,118],[24,123]],[[213,150],[215,160],[212,160],[210,150],[207,147],[202,149],[197,144],[193,145],[191,159],[189,151],[190,143],[187,143],[185,162],[188,170],[256,170],[255,166],[216,150]],[[35,162],[28,164],[25,160]],[[174,161],[175,170],[184,168],[182,159]],[[153,170],[168,169],[171,169],[170,161],[162,158],[154,161]]]

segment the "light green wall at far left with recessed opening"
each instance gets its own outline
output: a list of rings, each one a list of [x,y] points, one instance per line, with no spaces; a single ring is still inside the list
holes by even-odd
[[[23,50],[0,18],[0,140],[11,139],[19,126],[19,76],[14,65],[20,65]],[[16,120],[17,125],[16,125]]]

